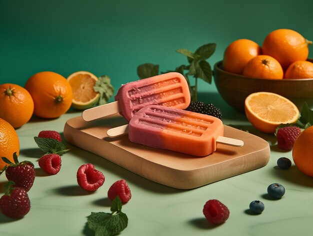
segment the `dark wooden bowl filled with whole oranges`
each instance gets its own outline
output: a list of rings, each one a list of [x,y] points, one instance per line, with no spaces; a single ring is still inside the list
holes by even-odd
[[[306,40],[296,31],[269,33],[260,47],[248,39],[232,42],[214,65],[214,82],[221,97],[244,112],[245,98],[256,92],[279,94],[298,109],[313,107],[313,60]]]

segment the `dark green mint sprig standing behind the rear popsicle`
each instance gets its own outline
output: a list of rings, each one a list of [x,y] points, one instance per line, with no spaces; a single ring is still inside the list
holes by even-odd
[[[216,44],[209,43],[202,45],[195,52],[187,49],[177,49],[176,52],[187,57],[188,65],[181,65],[175,70],[168,70],[166,72],[178,72],[182,74],[189,86],[191,101],[197,101],[197,80],[202,79],[208,84],[212,83],[212,69],[210,64],[206,61],[215,52]],[[137,67],[137,74],[139,79],[152,77],[159,74],[159,65],[151,63],[144,63]],[[193,76],[194,84],[191,85],[189,76]]]

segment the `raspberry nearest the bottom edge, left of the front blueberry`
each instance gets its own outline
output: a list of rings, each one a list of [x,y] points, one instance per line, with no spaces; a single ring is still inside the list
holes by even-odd
[[[209,223],[220,224],[228,219],[229,210],[219,200],[211,199],[205,202],[203,214]]]

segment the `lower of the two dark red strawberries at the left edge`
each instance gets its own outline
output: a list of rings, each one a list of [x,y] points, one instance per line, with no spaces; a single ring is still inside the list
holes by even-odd
[[[8,181],[6,189],[0,198],[1,212],[10,218],[21,218],[30,210],[30,201],[24,188],[15,187],[14,182]]]

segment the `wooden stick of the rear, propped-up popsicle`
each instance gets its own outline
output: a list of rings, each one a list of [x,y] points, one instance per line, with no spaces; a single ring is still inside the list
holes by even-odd
[[[108,115],[121,112],[121,107],[119,101],[107,103],[101,106],[92,107],[87,110],[84,110],[81,114],[81,117],[84,121],[96,120]]]

